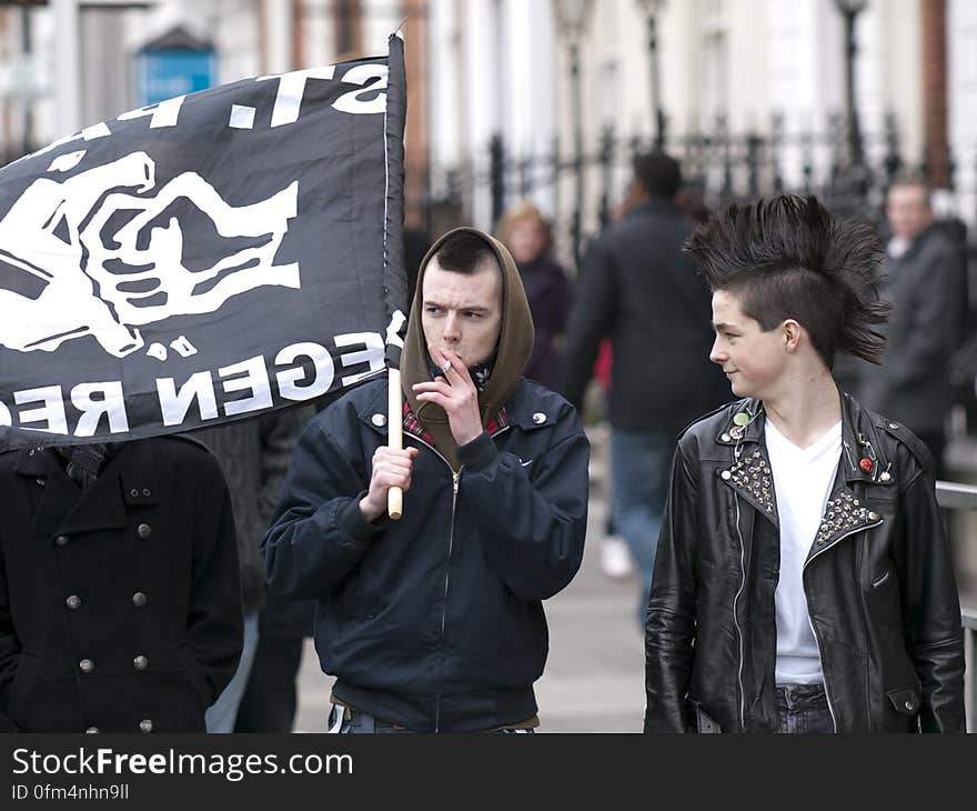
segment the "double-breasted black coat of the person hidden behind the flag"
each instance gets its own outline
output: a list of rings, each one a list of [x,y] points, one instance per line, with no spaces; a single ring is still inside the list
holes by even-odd
[[[81,490],[52,450],[0,453],[0,730],[203,731],[242,645],[215,458],[160,437]]]

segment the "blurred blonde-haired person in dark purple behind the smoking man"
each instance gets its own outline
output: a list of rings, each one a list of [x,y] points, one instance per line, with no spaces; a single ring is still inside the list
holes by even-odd
[[[553,237],[542,212],[523,201],[503,214],[496,234],[515,259],[533,317],[533,351],[523,374],[555,389],[573,286],[551,256]]]

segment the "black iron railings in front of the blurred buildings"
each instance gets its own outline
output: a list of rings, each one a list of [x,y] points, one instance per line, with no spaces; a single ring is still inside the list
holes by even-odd
[[[553,203],[557,242],[578,258],[586,242],[614,217],[624,194],[635,153],[651,149],[647,137],[627,137],[612,127],[583,154],[572,153],[572,139],[554,137],[544,152],[521,153],[495,136],[474,160],[436,167],[424,201],[429,230],[454,214],[472,219],[474,198],[487,202],[494,224],[517,199],[547,197]],[[665,149],[683,164],[689,188],[712,210],[735,201],[784,192],[814,193],[836,213],[884,224],[885,194],[903,172],[941,177],[955,200],[959,222],[977,222],[977,144],[968,156],[948,151],[941,167],[906,154],[895,117],[882,131],[860,137],[859,159],[852,160],[849,133],[842,116],[829,117],[819,130],[788,130],[775,117],[765,131],[734,132],[725,119],[712,128],[666,137]],[[577,179],[586,190],[577,197]],[[452,223],[449,223],[452,224]],[[485,223],[483,223],[485,224]]]

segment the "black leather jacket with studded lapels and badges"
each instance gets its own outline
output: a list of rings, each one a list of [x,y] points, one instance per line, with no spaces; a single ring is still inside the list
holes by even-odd
[[[842,459],[804,565],[835,729],[963,732],[960,608],[931,459],[847,394],[842,410]],[[738,412],[753,418],[741,431]],[[739,400],[679,440],[648,602],[645,731],[695,732],[703,715],[724,732],[777,729],[779,532],[763,427],[762,403]]]

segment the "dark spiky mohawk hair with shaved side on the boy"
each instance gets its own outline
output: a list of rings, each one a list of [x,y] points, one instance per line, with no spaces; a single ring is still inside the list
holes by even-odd
[[[837,351],[882,362],[875,328],[892,306],[878,297],[883,250],[872,226],[839,220],[813,196],[731,206],[696,229],[685,250],[709,289],[734,293],[764,331],[794,319],[830,369]]]

